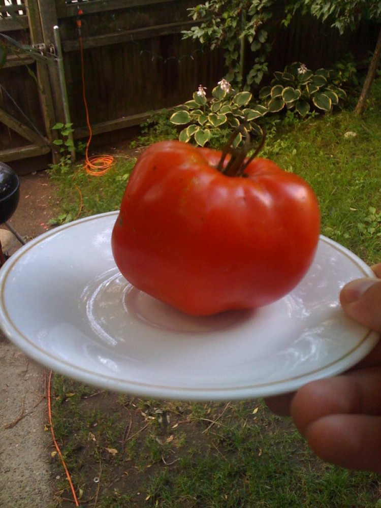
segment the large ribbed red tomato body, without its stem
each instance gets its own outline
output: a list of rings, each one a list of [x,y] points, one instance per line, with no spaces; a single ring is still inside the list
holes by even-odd
[[[319,241],[316,197],[300,177],[255,158],[243,177],[221,153],[163,141],[139,157],[112,232],[138,289],[194,315],[255,308],[302,279]]]

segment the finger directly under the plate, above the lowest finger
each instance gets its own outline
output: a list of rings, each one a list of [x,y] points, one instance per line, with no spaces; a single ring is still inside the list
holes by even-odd
[[[319,379],[302,387],[291,403],[291,416],[301,434],[328,415],[381,416],[381,368],[355,370]]]

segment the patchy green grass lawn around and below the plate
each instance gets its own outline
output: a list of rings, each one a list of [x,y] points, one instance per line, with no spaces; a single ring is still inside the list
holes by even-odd
[[[269,135],[262,156],[306,179],[319,199],[322,233],[368,264],[381,261],[381,86],[366,113],[296,122]],[[346,138],[346,132],[356,137]],[[134,160],[116,155],[101,178],[80,168],[52,172],[58,222],[117,209]],[[261,400],[184,403],[142,400],[54,376],[52,418],[83,506],[97,508],[370,508],[376,474],[317,459],[288,419]],[[73,506],[58,455],[55,506]],[[56,479],[56,477],[60,477]],[[94,481],[95,480],[95,481]],[[97,481],[99,480],[99,481]],[[377,502],[378,501],[378,502]]]

